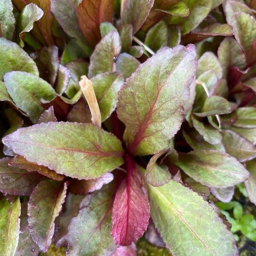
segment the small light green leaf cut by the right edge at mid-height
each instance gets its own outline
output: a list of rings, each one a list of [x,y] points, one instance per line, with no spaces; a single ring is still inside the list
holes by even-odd
[[[254,107],[242,107],[236,110],[237,119],[233,126],[242,128],[256,128],[256,109]]]

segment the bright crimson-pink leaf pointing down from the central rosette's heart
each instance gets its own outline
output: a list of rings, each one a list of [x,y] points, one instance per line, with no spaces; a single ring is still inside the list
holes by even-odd
[[[127,176],[117,189],[112,213],[111,235],[119,245],[130,245],[143,235],[150,210],[143,177],[129,156],[126,167]]]

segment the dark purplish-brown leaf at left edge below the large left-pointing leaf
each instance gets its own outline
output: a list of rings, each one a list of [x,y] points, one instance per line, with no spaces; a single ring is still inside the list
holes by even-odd
[[[10,160],[11,157],[0,159],[0,191],[9,195],[30,195],[43,176],[9,166]]]

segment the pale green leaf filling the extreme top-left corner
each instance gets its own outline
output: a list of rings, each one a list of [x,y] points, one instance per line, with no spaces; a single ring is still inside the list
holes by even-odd
[[[2,0],[0,3],[0,30],[2,37],[12,40],[15,30],[15,17],[12,13],[11,0]]]

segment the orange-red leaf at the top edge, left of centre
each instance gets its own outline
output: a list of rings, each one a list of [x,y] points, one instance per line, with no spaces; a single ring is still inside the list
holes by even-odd
[[[84,37],[94,47],[101,39],[100,23],[112,22],[113,1],[82,0],[78,6],[78,20]]]

